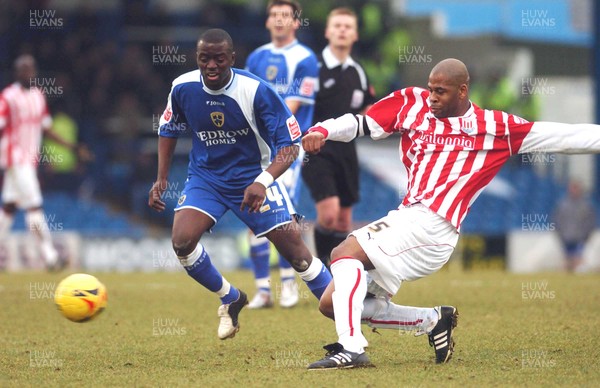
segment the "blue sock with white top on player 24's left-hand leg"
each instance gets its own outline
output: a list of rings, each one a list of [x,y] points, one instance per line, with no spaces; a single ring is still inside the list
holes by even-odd
[[[201,244],[198,244],[196,249],[188,256],[179,256],[179,261],[192,279],[219,295],[221,303],[228,304],[239,298],[240,292],[238,289],[230,285],[212,265],[210,256]]]

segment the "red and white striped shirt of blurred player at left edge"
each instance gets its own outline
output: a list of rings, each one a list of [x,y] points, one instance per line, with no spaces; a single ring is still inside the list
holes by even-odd
[[[0,95],[0,168],[37,166],[42,131],[52,126],[46,97],[15,82]]]

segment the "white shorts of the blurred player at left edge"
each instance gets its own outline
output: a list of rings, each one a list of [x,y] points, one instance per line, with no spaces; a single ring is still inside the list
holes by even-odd
[[[42,192],[34,166],[13,166],[6,169],[2,203],[14,203],[21,209],[42,206]]]

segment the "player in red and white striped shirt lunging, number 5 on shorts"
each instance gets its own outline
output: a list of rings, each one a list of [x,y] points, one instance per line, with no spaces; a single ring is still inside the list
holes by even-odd
[[[428,89],[396,91],[364,116],[346,114],[317,123],[303,138],[307,152],[318,152],[326,140],[366,135],[378,140],[399,133],[408,172],[408,193],[400,206],[333,249],[333,282],[319,308],[332,319],[335,314],[339,339],[325,346],[327,355],[309,369],[371,366],[361,321],[427,334],[436,362],[447,362],[456,308],[400,306],[391,303],[391,296],[402,282],[430,275],[448,261],[469,208],[510,156],[600,152],[598,125],[527,122],[476,106],[469,100],[467,68],[457,59],[434,66]]]

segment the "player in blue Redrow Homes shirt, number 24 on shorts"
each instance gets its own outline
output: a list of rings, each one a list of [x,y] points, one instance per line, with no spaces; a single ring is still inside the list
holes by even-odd
[[[301,137],[295,117],[260,78],[232,68],[233,42],[221,29],[197,43],[199,70],[173,81],[159,124],[158,173],[148,205],[161,196],[177,138],[192,132],[188,179],[175,208],[172,243],[194,280],[221,298],[217,334],[232,338],[247,296],[212,265],[200,238],[228,210],[257,236],[267,237],[319,299],[331,274],[304,244],[286,189],[275,181],[296,159]]]

